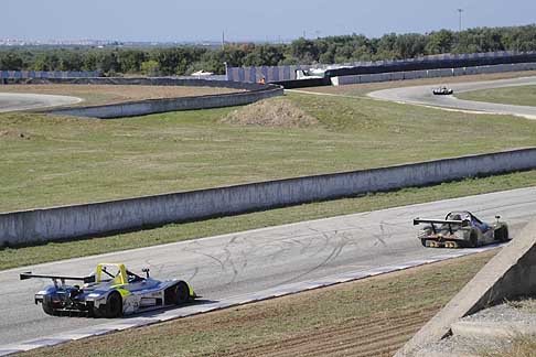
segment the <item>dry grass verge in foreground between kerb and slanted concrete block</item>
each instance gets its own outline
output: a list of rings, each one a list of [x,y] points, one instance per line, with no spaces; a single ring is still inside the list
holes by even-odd
[[[493,251],[21,356],[392,356]]]

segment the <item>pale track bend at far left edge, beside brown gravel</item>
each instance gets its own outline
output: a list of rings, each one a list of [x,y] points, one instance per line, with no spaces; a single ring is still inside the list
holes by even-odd
[[[66,106],[81,101],[81,98],[67,96],[0,93],[0,112]]]

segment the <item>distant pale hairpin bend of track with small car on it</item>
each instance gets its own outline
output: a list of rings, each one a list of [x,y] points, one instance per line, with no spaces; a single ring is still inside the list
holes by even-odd
[[[470,111],[470,112],[480,112],[480,113],[512,115],[512,116],[524,117],[527,119],[536,119],[536,107],[471,101],[471,100],[461,100],[455,98],[457,94],[463,91],[491,89],[491,88],[500,88],[500,87],[517,87],[517,86],[536,85],[536,77],[449,84],[448,87],[454,90],[453,96],[433,95],[432,89],[437,88],[439,85],[440,84],[436,86],[428,85],[428,86],[376,90],[369,93],[368,96],[382,100],[438,107],[438,108],[449,109],[449,110]]]

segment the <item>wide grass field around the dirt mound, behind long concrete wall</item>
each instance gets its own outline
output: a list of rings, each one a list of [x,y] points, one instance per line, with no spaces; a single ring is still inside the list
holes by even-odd
[[[221,123],[232,109],[117,120],[0,115],[0,212],[536,144],[536,121],[519,118],[364,98],[288,98],[320,125],[288,129]]]

